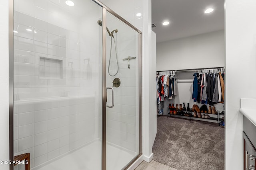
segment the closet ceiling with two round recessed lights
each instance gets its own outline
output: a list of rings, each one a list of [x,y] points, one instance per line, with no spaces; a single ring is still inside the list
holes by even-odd
[[[214,11],[205,14],[207,8]],[[152,23],[157,43],[221,30],[224,0],[152,0]]]

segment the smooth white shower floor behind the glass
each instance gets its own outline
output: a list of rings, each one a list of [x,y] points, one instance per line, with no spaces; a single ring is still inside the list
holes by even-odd
[[[107,170],[121,170],[138,153],[107,144]],[[32,170],[101,170],[101,141],[95,141],[54,162]]]

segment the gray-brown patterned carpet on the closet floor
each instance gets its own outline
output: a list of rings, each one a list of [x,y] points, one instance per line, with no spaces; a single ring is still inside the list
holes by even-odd
[[[160,116],[153,159],[178,170],[224,170],[224,143],[217,123]]]

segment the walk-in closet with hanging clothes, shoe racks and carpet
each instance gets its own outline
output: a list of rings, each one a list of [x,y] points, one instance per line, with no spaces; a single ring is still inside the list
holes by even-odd
[[[176,170],[224,170],[224,0],[152,1],[152,31],[153,160]]]

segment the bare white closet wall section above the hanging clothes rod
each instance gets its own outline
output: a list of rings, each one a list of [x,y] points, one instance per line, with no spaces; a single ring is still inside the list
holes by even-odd
[[[224,30],[157,43],[156,70],[220,67],[224,54]]]

